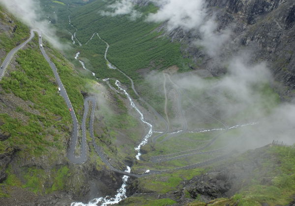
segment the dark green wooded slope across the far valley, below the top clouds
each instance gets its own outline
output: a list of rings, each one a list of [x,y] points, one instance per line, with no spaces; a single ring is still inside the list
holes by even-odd
[[[139,10],[153,12],[149,4]],[[109,60],[130,77],[138,78],[135,71],[142,68],[161,69],[172,65],[182,67],[179,44],[155,31],[159,24],[147,23],[145,15],[134,21],[129,16],[101,16],[106,2],[95,1],[83,7],[71,9],[72,22],[77,27],[77,37],[86,43],[93,32],[98,32],[111,47]]]

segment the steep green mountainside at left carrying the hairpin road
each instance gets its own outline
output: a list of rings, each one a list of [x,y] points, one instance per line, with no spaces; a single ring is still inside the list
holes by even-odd
[[[29,28],[0,8],[0,36],[2,63],[7,52],[29,38]],[[81,120],[82,93],[87,95],[90,88],[89,95],[108,93],[73,70],[49,43],[44,44]],[[116,191],[121,177],[106,169],[94,150],[83,165],[69,162],[71,131],[69,111],[36,34],[12,58],[0,81],[0,205],[64,206],[72,199],[88,200],[97,193]],[[96,189],[98,180],[100,189]]]

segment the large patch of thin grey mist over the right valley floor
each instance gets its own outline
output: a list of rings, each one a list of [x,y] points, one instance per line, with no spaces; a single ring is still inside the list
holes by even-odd
[[[220,137],[224,139],[222,146],[244,151],[265,146],[273,140],[295,144],[295,105],[280,103],[279,96],[271,89],[274,80],[267,62],[253,63],[251,55],[243,51],[224,62],[223,66],[227,68],[227,74],[213,78],[198,76],[195,71],[187,74],[164,71],[179,87],[188,130],[253,123],[236,129],[235,134],[225,132]],[[159,82],[157,87],[163,88],[162,72],[153,72],[146,80],[150,85]],[[172,87],[173,84],[166,81],[168,99],[174,104]],[[170,122],[177,121],[178,125],[182,124],[179,116],[170,119]],[[171,131],[176,129],[179,128],[171,126]]]

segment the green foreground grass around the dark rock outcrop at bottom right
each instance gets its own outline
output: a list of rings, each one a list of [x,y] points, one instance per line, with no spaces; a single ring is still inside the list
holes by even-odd
[[[220,164],[217,163],[210,168],[180,170],[141,178],[132,183],[132,188],[136,189],[138,194],[125,199],[119,205],[133,205],[137,203],[140,203],[139,205],[148,205],[157,199],[160,201],[164,197],[169,198],[166,199],[167,203],[170,203],[171,199],[177,202],[185,200],[187,204],[182,205],[186,206],[288,205],[294,201],[295,195],[294,153],[294,146],[264,147],[240,154]],[[253,162],[256,163],[253,164]],[[244,179],[236,179],[236,185],[239,185],[237,187],[239,189],[234,196],[215,200],[211,198],[213,199],[212,201],[202,202],[201,195],[207,194],[207,187],[205,186],[204,193],[200,192],[197,197],[192,198],[195,194],[190,194],[192,188],[186,185],[188,182],[194,182],[195,179],[192,179],[192,177],[199,177],[202,174],[207,175],[212,170],[216,172],[224,167],[235,169],[240,167],[240,165],[242,165],[244,170],[249,168],[252,170],[251,167],[256,166],[254,166],[253,173],[250,176],[246,175]],[[237,177],[239,177],[239,174]],[[214,180],[210,181],[214,182]],[[204,182],[204,184],[206,185],[207,182]],[[218,191],[217,188],[216,191]],[[208,191],[214,193],[212,189],[208,189]]]

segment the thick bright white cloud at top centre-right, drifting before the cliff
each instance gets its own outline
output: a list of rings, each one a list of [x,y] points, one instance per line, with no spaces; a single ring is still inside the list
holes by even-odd
[[[218,30],[215,15],[208,14],[205,0],[151,0],[160,8],[149,14],[147,20],[167,22],[167,29],[181,28],[199,34],[195,45],[204,47],[211,57],[217,56],[222,46],[230,39],[229,29]]]

